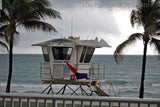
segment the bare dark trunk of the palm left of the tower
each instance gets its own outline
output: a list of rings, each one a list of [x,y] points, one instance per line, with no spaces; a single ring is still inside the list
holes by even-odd
[[[8,82],[6,87],[6,92],[10,93],[11,79],[12,79],[12,63],[13,63],[13,39],[10,39],[9,45],[9,73],[8,73]]]

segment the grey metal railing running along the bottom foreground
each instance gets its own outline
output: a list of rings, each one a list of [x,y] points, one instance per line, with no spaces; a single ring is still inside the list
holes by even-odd
[[[0,107],[160,107],[160,99],[0,93]]]

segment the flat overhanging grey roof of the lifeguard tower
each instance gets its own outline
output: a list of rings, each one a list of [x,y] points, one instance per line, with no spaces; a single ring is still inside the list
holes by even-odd
[[[89,46],[94,48],[101,48],[101,47],[111,47],[106,41],[101,39],[98,41],[98,38],[95,40],[76,40],[76,39],[52,39],[45,42],[40,42],[37,44],[33,44],[32,46]]]

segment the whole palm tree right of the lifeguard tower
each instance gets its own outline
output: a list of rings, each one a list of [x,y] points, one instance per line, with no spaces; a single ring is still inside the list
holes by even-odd
[[[143,33],[134,33],[129,38],[117,46],[114,57],[118,63],[122,59],[122,52],[125,47],[134,43],[137,40],[143,40],[143,61],[142,61],[142,74],[141,84],[139,91],[139,98],[143,98],[144,95],[144,80],[145,80],[145,68],[146,68],[146,53],[148,44],[155,47],[155,50],[160,54],[160,40],[157,39],[160,29],[160,3],[159,0],[139,0],[139,6],[137,9],[132,10],[130,21],[132,27],[135,24],[143,26]]]

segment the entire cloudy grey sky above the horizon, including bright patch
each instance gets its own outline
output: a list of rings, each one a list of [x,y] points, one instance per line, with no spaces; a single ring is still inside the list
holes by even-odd
[[[20,37],[14,47],[14,53],[39,54],[40,47],[31,44],[41,41],[63,38],[71,35],[73,21],[73,36],[81,39],[104,39],[112,48],[96,50],[95,54],[113,54],[115,48],[134,32],[142,32],[141,28],[132,28],[129,22],[130,12],[136,6],[136,0],[50,0],[52,7],[61,13],[62,20],[46,19],[58,33],[40,31],[27,32],[19,28]],[[143,43],[127,49],[126,54],[142,54]],[[138,49],[137,49],[138,48]],[[153,54],[149,49],[149,54]]]

